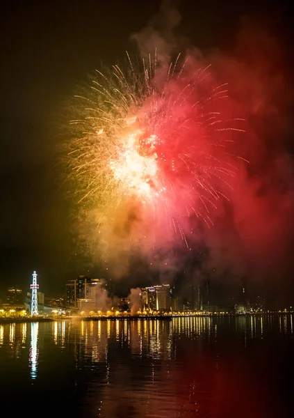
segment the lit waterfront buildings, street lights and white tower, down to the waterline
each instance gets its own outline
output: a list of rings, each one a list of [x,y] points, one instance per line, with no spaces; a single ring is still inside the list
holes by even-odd
[[[38,290],[36,283],[37,274],[33,273],[31,289]],[[244,281],[242,281],[243,283]],[[145,288],[131,289],[128,297],[111,298],[106,290],[107,284],[100,279],[79,276],[76,280],[67,282],[67,297],[52,299],[49,304],[44,304],[44,294],[38,292],[37,311],[33,304],[33,292],[28,293],[24,303],[20,303],[19,295],[22,289],[8,288],[8,304],[0,305],[1,321],[31,321],[56,320],[58,318],[83,320],[92,319],[125,319],[125,318],[177,318],[197,316],[263,316],[286,315],[293,312],[293,306],[280,308],[279,310],[266,309],[266,300],[261,296],[252,299],[247,298],[247,286],[243,283],[240,300],[235,298],[227,306],[219,306],[218,303],[206,303],[207,286],[198,288],[197,297],[193,303],[181,302],[179,296],[174,294],[169,284],[154,284]],[[40,293],[40,295],[39,295]],[[18,297],[17,303],[15,297]],[[72,306],[69,306],[72,304]]]

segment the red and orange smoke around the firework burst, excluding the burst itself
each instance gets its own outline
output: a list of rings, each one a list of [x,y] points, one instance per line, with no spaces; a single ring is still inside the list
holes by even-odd
[[[294,270],[294,176],[289,141],[293,95],[285,51],[270,22],[243,18],[230,53],[219,49],[201,52],[179,33],[181,14],[173,4],[163,1],[158,14],[131,40],[146,62],[149,54],[156,54],[158,87],[163,81],[161,70],[166,74],[179,52],[182,63],[190,57],[185,67],[187,79],[211,64],[209,81],[228,83],[229,98],[222,111],[228,118],[244,118],[245,134],[236,139],[227,132],[227,139],[234,141],[226,151],[226,162],[232,162],[231,154],[240,156],[234,160],[236,171],[224,192],[227,199],[209,209],[210,227],[196,216],[183,221],[183,232],[193,231],[187,247],[162,230],[159,235],[164,245],[157,248],[150,238],[154,221],[145,217],[142,222],[142,206],[134,199],[120,209],[114,224],[109,222],[109,214],[99,218],[99,231],[93,231],[99,234],[98,249],[97,242],[90,240],[89,252],[99,252],[114,278],[138,275],[140,269],[133,268],[132,259],[144,254],[148,268],[140,274],[145,280],[157,272],[157,281],[173,281],[180,270],[195,277],[197,270],[198,278],[211,274],[236,281],[248,276],[260,284],[289,285]],[[177,81],[168,88],[182,91]],[[144,111],[142,107],[142,114]],[[177,204],[181,206],[181,202]],[[91,216],[95,222],[90,224],[97,224],[97,213],[93,211]],[[82,221],[83,231],[89,231]],[[140,308],[139,292],[139,288],[131,289],[133,312]]]

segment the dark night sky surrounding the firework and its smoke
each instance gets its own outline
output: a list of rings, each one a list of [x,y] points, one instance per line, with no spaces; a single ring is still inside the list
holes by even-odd
[[[6,1],[1,6],[0,288],[27,286],[38,270],[45,293],[63,291],[80,271],[71,263],[69,204],[60,190],[57,148],[63,104],[101,63],[120,61],[161,1]],[[229,52],[244,15],[277,17],[279,1],[178,2],[177,29],[200,49]],[[197,4],[197,6],[196,6]],[[278,6],[279,4],[279,6]]]

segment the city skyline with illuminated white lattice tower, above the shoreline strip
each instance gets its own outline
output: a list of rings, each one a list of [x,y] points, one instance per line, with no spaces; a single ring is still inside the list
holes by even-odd
[[[2,316],[4,312],[24,311],[31,316],[50,316],[59,311],[60,315],[137,314],[154,313],[195,313],[195,314],[266,314],[292,311],[294,301],[281,304],[277,300],[256,293],[244,277],[238,286],[223,286],[211,279],[199,278],[183,292],[174,284],[156,284],[130,288],[124,297],[118,297],[104,279],[92,279],[79,275],[65,283],[62,295],[49,297],[40,291],[38,274],[32,274],[31,291],[26,292],[19,286],[11,286],[0,299]],[[33,291],[32,291],[33,289]],[[42,284],[41,284],[42,290]],[[34,293],[35,291],[35,293]],[[57,310],[56,310],[57,309]],[[15,314],[13,314],[15,315]],[[4,315],[5,316],[5,315]]]

